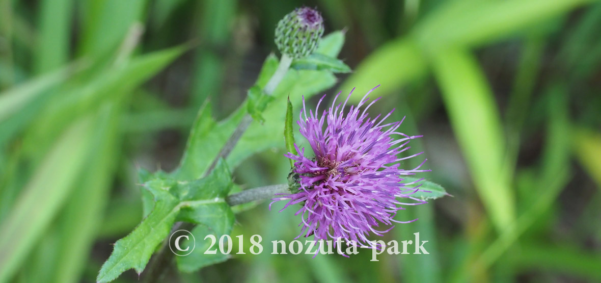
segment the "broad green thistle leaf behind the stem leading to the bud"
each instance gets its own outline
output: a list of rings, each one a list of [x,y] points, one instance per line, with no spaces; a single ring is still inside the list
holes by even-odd
[[[328,45],[323,46],[324,48],[328,48],[329,52],[332,52],[328,55],[335,56],[337,54],[334,54],[334,52],[340,50],[344,38],[338,36],[338,34],[332,34],[332,36],[337,40],[329,39],[330,35],[325,36],[324,40],[328,40]],[[320,45],[321,47],[322,45]],[[317,49],[317,52],[326,51],[326,49],[322,51],[320,48]],[[259,73],[257,82],[252,88],[254,89],[254,93],[257,93],[259,88],[262,89],[267,84],[277,66],[278,60],[274,56],[267,57],[263,63],[263,68]],[[272,98],[261,99],[261,95],[253,94],[252,98],[249,96],[247,99],[254,102],[243,102],[242,105],[247,105],[246,107],[239,107],[227,119],[219,122],[216,122],[212,117],[211,103],[206,102],[198,112],[198,117],[192,126],[188,144],[182,157],[182,163],[174,172],[174,178],[194,179],[203,175],[207,167],[209,167],[211,160],[217,156],[219,150],[234,132],[234,129],[249,108],[256,110],[255,114],[257,114],[260,113],[259,109],[264,107],[262,113],[264,118],[263,125],[252,123],[249,126],[248,130],[240,138],[236,148],[234,148],[233,152],[227,158],[227,163],[232,168],[236,168],[242,161],[256,152],[261,152],[268,148],[281,147],[281,121],[284,120],[285,112],[282,111],[280,105],[284,105],[286,95],[290,96],[293,105],[300,105],[303,96],[305,99],[308,99],[316,93],[333,86],[334,83],[334,75],[327,70],[289,71],[278,87],[276,87]],[[249,92],[252,92],[252,89]],[[267,105],[268,101],[271,101],[269,105]],[[257,102],[260,103],[257,104]],[[254,106],[249,107],[248,105],[251,103]],[[262,106],[257,107],[255,105]]]

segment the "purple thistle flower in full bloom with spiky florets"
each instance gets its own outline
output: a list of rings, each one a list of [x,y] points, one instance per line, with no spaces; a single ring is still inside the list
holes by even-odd
[[[274,202],[288,200],[282,210],[290,205],[302,204],[301,209],[294,214],[301,214],[299,226],[302,229],[298,237],[314,234],[315,240],[328,240],[328,237],[335,240],[341,237],[347,242],[353,240],[358,244],[371,243],[367,239],[370,232],[382,235],[394,227],[385,231],[374,229],[380,223],[391,225],[392,222],[409,223],[417,220],[395,221],[393,217],[397,211],[404,209],[398,205],[426,203],[411,196],[419,191],[419,185],[414,185],[415,182],[403,182],[402,178],[403,175],[430,171],[419,170],[426,160],[411,170],[402,169],[399,163],[423,152],[398,157],[401,152],[409,149],[406,145],[410,140],[421,136],[397,132],[402,120],[385,123],[394,109],[382,119],[379,119],[380,115],[374,119],[368,118],[367,109],[379,98],[364,110],[359,110],[374,89],[356,107],[351,106],[347,113],[344,113],[344,107],[352,91],[344,104],[334,107],[339,93],[322,116],[319,116],[318,111],[325,96],[317,104],[315,113],[309,110],[308,115],[303,98],[303,110],[297,123],[315,157],[305,157],[304,148],[299,150],[294,145],[299,154],[288,152],[285,157],[295,161],[293,172],[300,175],[299,191],[273,199]],[[327,125],[324,129],[325,122]],[[410,199],[412,202],[401,202],[398,198]]]

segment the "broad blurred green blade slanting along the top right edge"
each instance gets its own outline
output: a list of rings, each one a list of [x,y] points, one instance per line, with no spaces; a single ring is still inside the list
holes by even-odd
[[[590,2],[594,0],[448,1],[416,26],[414,35],[429,51],[478,46]]]

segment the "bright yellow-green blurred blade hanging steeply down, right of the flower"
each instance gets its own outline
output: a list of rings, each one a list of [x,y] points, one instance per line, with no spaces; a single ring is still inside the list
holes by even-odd
[[[495,227],[502,231],[513,222],[515,205],[504,173],[505,138],[492,93],[468,52],[450,50],[439,54],[433,63],[477,192]]]

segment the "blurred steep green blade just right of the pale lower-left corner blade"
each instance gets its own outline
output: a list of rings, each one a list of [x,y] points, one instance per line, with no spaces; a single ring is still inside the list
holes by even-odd
[[[103,229],[102,214],[119,160],[115,157],[119,117],[118,106],[105,105],[94,121],[93,154],[58,219],[60,240],[54,282],[79,282],[96,233]]]

